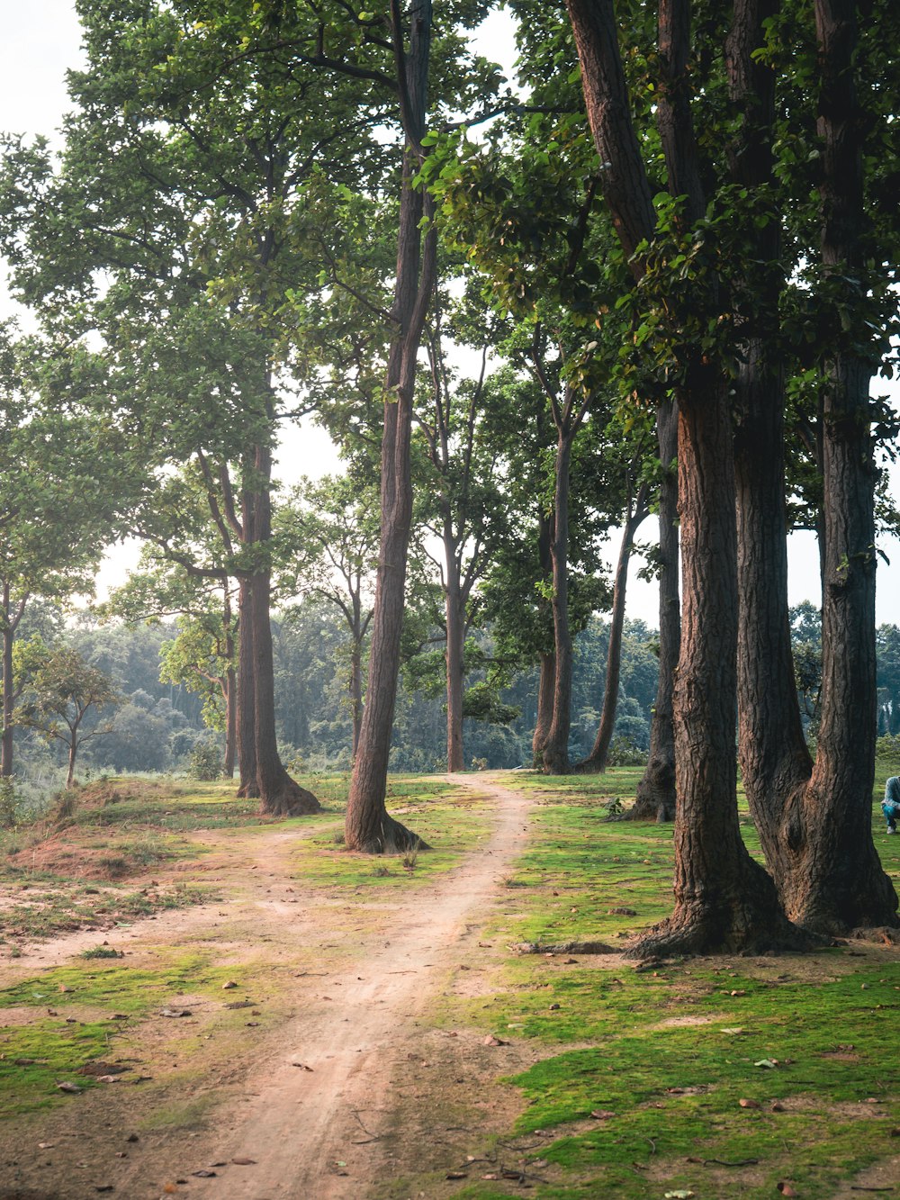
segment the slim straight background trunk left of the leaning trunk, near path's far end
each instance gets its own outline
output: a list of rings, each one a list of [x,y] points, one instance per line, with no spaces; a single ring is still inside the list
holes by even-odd
[[[544,743],[544,769],[553,775],[569,770],[569,730],[572,697],[572,635],[569,629],[569,468],[572,433],[559,430],[553,491],[553,719]]]

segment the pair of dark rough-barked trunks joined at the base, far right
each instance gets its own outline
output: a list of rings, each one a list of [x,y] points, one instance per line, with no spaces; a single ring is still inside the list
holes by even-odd
[[[754,5],[746,0],[746,7]],[[826,78],[820,133],[826,144],[823,262],[842,276],[859,269],[856,245],[862,221],[860,168],[852,116],[853,6],[818,12]],[[736,10],[737,11],[737,10]],[[757,20],[768,7],[756,13]],[[754,70],[750,52],[761,44],[732,40],[732,94]],[[740,49],[745,54],[742,71]],[[758,73],[764,68],[756,67]],[[757,84],[756,94],[764,83]],[[830,115],[829,115],[830,114]],[[766,122],[772,128],[774,100]],[[835,127],[835,120],[844,128]],[[851,126],[848,128],[847,126]],[[751,133],[752,137],[752,133]],[[768,145],[742,146],[740,182],[769,178]],[[756,150],[754,154],[752,151]],[[755,179],[748,169],[757,163]],[[834,218],[838,224],[833,223]],[[772,234],[757,235],[755,254],[776,257]],[[755,308],[773,311],[778,294]],[[852,296],[850,298],[852,301]],[[748,800],[784,907],[792,919],[823,934],[896,920],[896,896],[881,870],[871,839],[875,764],[875,560],[874,466],[868,426],[869,367],[836,349],[823,420],[826,581],[822,656],[822,726],[812,768],[793,684],[787,614],[784,517],[784,386],[772,361],[773,329],[754,330],[738,379],[742,420],[737,438],[739,479],[742,638],[740,757]]]

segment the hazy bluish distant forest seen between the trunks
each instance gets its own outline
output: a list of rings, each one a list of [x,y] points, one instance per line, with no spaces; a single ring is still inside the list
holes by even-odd
[[[809,604],[791,611],[800,709],[808,737],[817,728],[821,685],[821,629]],[[608,622],[595,617],[576,638],[572,686],[572,758],[586,756],[600,718],[606,676]],[[116,700],[85,716],[78,778],[109,772],[182,772],[191,769],[196,748],[205,761],[221,761],[222,713],[214,685],[185,671],[172,678],[170,650],[178,622],[124,625],[83,619],[61,624],[50,608],[37,610],[23,631],[28,646],[54,637],[70,646],[107,676]],[[314,599],[277,612],[272,619],[277,730],[282,757],[298,772],[342,770],[350,766],[352,716],[347,694],[349,644],[334,607]],[[626,620],[622,674],[611,763],[646,761],[656,694],[656,631],[641,620]],[[394,727],[391,769],[446,769],[446,709],[443,649],[438,643],[414,646],[406,656]],[[467,696],[476,707],[485,680],[496,671],[488,632],[469,641],[474,667]],[[878,732],[900,732],[900,628],[882,625],[877,634]],[[492,719],[468,716],[463,737],[467,768],[510,768],[532,764],[536,720],[538,668],[508,671],[487,712]],[[168,676],[168,677],[167,677]],[[100,732],[109,728],[109,732]],[[97,736],[92,736],[97,734]],[[210,755],[211,748],[212,752]],[[47,786],[59,779],[66,748],[36,728],[16,730],[16,776]]]

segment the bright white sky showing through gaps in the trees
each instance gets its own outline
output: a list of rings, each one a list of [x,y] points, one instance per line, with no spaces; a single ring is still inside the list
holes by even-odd
[[[4,14],[4,36],[0,38],[0,130],[13,133],[43,133],[53,136],[61,124],[67,106],[65,72],[80,62],[79,28],[71,0],[28,0],[10,4]],[[482,35],[482,53],[509,66],[512,47],[509,41],[509,18],[494,13]],[[0,314],[8,311],[8,301],[0,294]],[[894,396],[900,392],[893,389]],[[277,473],[282,476],[319,475],[336,468],[337,458],[328,437],[318,428],[295,430],[286,438]],[[900,467],[890,467],[892,490],[900,496]],[[653,523],[648,521],[638,540],[650,541]],[[890,566],[878,563],[878,622],[900,622],[900,545],[888,539],[882,550],[892,559]],[[614,562],[618,546],[610,546],[610,562]],[[134,546],[119,547],[107,556],[101,572],[101,588],[120,582],[134,564]],[[790,600],[798,604],[818,598],[818,557],[811,534],[794,534],[790,541]],[[636,577],[632,564],[629,577],[628,612],[650,625],[658,623],[656,589]]]

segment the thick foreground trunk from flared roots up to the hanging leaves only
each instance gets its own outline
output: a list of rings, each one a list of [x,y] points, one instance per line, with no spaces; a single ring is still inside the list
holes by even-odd
[[[696,367],[679,398],[684,612],[674,690],[674,912],[635,948],[648,954],[762,952],[806,944],[744,846],[736,804],[737,565],[727,386]]]

